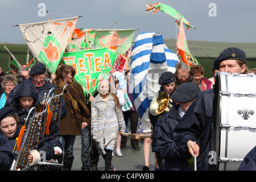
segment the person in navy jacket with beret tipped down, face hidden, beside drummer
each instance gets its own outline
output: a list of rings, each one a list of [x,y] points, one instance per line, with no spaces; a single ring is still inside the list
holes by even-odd
[[[181,84],[172,94],[172,100],[177,104],[156,123],[158,132],[156,143],[160,156],[164,159],[165,171],[185,171],[191,169],[188,160],[178,150],[172,133],[183,117],[188,107],[199,96],[199,89],[190,82]]]

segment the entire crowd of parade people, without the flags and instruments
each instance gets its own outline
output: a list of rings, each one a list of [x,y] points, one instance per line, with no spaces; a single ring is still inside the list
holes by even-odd
[[[191,158],[196,155],[197,170],[213,170],[209,164],[211,150],[211,127],[213,117],[213,88],[217,72],[247,74],[245,52],[236,47],[224,49],[214,60],[212,78],[204,77],[201,65],[179,62],[175,73],[163,72],[159,75],[160,90],[170,98],[171,108],[166,113],[152,115],[150,137],[143,138],[143,149],[138,139],[130,139],[133,150],[143,150],[143,171],[150,170],[149,154],[155,153],[155,170],[191,171]],[[122,157],[127,150],[127,127],[130,133],[137,133],[139,114],[129,90],[130,71],[125,71],[126,89],[119,87],[115,77],[115,87],[110,80],[98,84],[94,96],[85,94],[82,86],[74,80],[75,69],[71,65],[59,65],[56,72],[49,75],[46,65],[36,63],[30,70],[22,68],[18,76],[5,75],[0,68],[0,170],[13,170],[18,154],[18,138],[31,107],[38,107],[45,93],[55,88],[64,93],[60,121],[51,121],[48,134],[40,138],[38,147],[30,150],[27,162],[31,168],[40,160],[40,151],[46,160],[63,164],[63,171],[70,171],[73,164],[73,145],[77,135],[81,135],[81,160],[83,171],[97,171],[98,160],[102,156],[105,171],[114,171],[113,151]],[[65,85],[69,89],[64,89]],[[131,101],[131,109],[123,111],[124,94]],[[130,122],[130,125],[128,125]],[[241,163],[240,170],[255,170],[255,149]],[[36,168],[35,168],[36,169]],[[56,169],[55,169],[56,170]],[[122,170],[122,169],[118,169]]]

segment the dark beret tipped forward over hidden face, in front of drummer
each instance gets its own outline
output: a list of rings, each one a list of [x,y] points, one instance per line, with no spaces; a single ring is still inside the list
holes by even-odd
[[[181,84],[172,94],[172,99],[177,102],[188,102],[199,96],[199,88],[191,82]]]

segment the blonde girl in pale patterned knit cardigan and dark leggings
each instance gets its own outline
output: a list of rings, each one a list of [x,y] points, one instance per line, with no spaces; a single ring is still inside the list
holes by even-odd
[[[125,132],[126,126],[116,94],[110,90],[110,82],[102,80],[98,95],[92,102],[92,135],[98,151],[105,160],[105,171],[113,170],[112,151],[118,134],[118,127]]]

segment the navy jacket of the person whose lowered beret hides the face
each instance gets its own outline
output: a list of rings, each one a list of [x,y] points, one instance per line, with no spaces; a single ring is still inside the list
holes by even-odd
[[[155,125],[157,148],[164,159],[164,170],[166,171],[191,170],[188,160],[179,151],[173,137],[174,129],[181,119],[179,106],[172,106]]]

